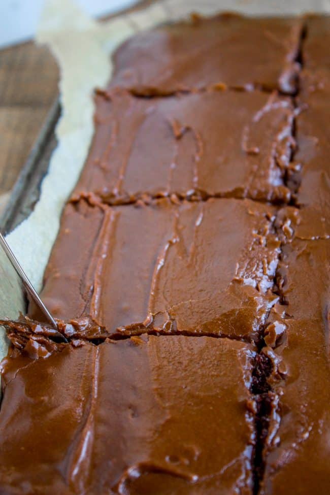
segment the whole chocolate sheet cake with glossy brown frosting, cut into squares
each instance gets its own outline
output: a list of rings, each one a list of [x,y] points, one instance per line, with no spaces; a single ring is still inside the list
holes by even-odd
[[[330,19],[135,36],[42,298],[7,322],[0,493],[328,495]]]

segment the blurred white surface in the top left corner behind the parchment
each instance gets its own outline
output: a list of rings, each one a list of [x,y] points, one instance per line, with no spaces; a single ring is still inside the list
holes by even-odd
[[[45,0],[0,0],[0,48],[20,43],[35,34]],[[117,12],[135,0],[76,0],[90,15]]]

